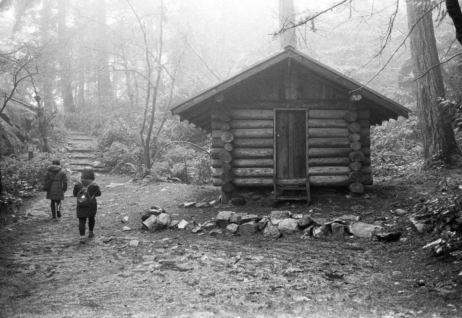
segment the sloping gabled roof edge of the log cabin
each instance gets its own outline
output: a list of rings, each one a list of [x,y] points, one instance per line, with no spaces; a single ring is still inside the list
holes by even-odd
[[[340,87],[350,92],[354,91],[355,93],[361,94],[365,99],[370,100],[380,108],[382,113],[380,120],[382,121],[389,120],[390,118],[396,120],[398,116],[408,118],[408,114],[411,112],[410,109],[402,106],[401,104],[389,99],[386,96],[383,96],[382,94],[372,90],[371,88],[368,88],[367,86],[363,87],[362,84],[353,78],[350,78],[334,70],[333,68],[312,59],[310,56],[296,50],[292,46],[287,46],[284,50],[281,50],[280,52],[269,56],[267,59],[249,66],[237,75],[220,81],[212,87],[200,91],[196,95],[189,97],[187,100],[179,103],[175,107],[170,108],[170,111],[174,115],[180,115],[182,117],[181,120],[188,120],[188,117],[191,116],[190,114],[194,113],[195,108],[197,108],[198,111],[201,110],[201,108],[198,107],[201,102],[286,59],[291,59],[298,64],[305,66],[306,68],[310,69],[310,71],[315,72],[324,78],[327,78],[331,82],[338,84]],[[381,122],[371,122],[371,124],[381,124]]]

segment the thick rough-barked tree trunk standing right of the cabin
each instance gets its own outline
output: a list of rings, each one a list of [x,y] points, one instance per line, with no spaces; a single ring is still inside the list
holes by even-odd
[[[445,98],[443,76],[438,64],[438,52],[433,30],[431,1],[406,0],[410,32],[411,57],[416,85],[420,129],[427,162],[448,161],[458,152],[449,105],[441,104]],[[423,76],[422,76],[423,75]],[[420,77],[422,76],[422,77]],[[419,78],[420,77],[420,78]]]

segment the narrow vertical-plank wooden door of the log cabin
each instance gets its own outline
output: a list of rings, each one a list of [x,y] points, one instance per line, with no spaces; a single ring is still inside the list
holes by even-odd
[[[276,110],[277,179],[306,179],[306,110]]]

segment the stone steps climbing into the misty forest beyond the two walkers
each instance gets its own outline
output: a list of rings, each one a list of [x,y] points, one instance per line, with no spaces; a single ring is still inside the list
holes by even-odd
[[[94,166],[91,153],[95,151],[97,142],[85,132],[70,132],[67,142],[67,168],[81,172],[85,168],[93,168],[95,172],[102,167]]]

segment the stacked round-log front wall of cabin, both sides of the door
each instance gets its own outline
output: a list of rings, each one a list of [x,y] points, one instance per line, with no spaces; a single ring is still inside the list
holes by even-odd
[[[280,103],[234,102],[213,110],[213,184],[222,187],[222,195],[234,186],[273,186],[275,107]],[[310,186],[349,186],[352,192],[363,192],[364,185],[372,184],[369,111],[358,109],[355,101],[310,107],[315,108],[308,111]],[[304,182],[277,180],[281,186]]]

